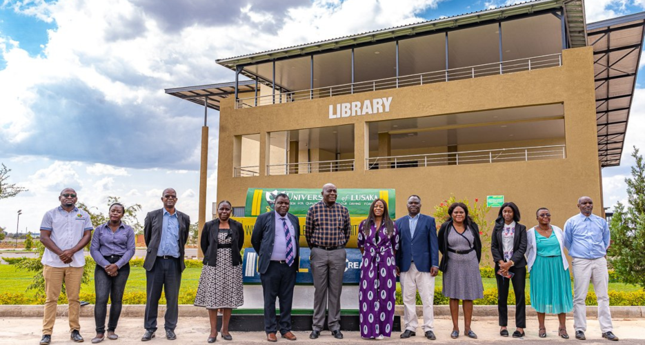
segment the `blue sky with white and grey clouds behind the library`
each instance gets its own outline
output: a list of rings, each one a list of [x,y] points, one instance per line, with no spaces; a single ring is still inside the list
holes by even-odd
[[[586,1],[587,20],[642,11],[643,1]],[[164,88],[232,80],[217,58],[511,3],[0,0],[0,162],[29,188],[0,200],[0,226],[14,231],[21,209],[21,231],[37,230],[66,186],[90,205],[106,208],[115,195],[144,211],[175,186],[178,208],[196,220],[203,109]],[[645,125],[645,91],[636,95],[623,165],[603,170],[606,206],[625,199],[631,145],[645,147],[633,134]],[[210,112],[209,202],[217,193],[217,117]]]

